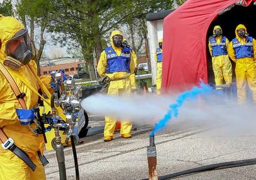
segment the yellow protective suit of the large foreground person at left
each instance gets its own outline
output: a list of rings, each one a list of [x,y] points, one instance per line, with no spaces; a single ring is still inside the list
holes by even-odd
[[[19,30],[23,29],[24,26],[14,17],[5,16],[0,17],[0,25],[0,63],[3,64],[6,57],[6,42]],[[30,66],[36,70],[36,63],[34,61],[30,61]],[[8,67],[6,69],[11,75],[14,72],[14,70]],[[30,85],[37,89],[36,79],[31,74],[28,65],[22,65],[17,70],[17,73],[25,77],[30,82]],[[26,94],[25,103],[27,108],[36,107],[38,95],[25,86],[17,76],[14,75],[13,78],[19,86],[19,90]],[[0,146],[0,179],[46,179],[45,168],[37,157],[37,151],[43,154],[45,147],[43,135],[35,135],[28,126],[21,125],[16,114],[16,108],[21,108],[21,105],[5,76],[0,72],[0,128],[7,137],[11,137],[14,140],[16,146],[28,154],[37,166],[33,172],[19,157],[10,150],[3,150],[2,146]]]

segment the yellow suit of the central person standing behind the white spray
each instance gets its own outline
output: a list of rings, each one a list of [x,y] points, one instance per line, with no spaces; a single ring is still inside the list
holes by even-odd
[[[117,55],[121,55],[122,47],[114,46],[114,43],[112,41],[112,37],[116,34],[123,35],[122,32],[120,32],[119,30],[114,30],[111,33],[111,37],[110,37],[111,46]],[[106,66],[107,66],[107,54],[105,53],[105,50],[103,50],[103,52],[101,52],[101,55],[100,55],[100,60],[98,62],[97,71],[101,77],[104,75],[107,75],[111,79],[111,82],[109,85],[109,90],[108,90],[107,94],[108,95],[129,94],[131,92],[131,82],[129,79],[131,73],[114,72],[111,74],[106,74]],[[134,72],[133,55],[131,55],[130,71]],[[109,106],[111,106],[111,105],[109,105]],[[122,112],[120,112],[120,113],[122,113]],[[116,119],[106,116],[105,117],[104,137],[106,137],[106,136],[112,137],[114,135],[115,127],[116,127]],[[132,124],[129,121],[121,120],[120,134],[129,134],[131,131],[131,128],[132,128]]]

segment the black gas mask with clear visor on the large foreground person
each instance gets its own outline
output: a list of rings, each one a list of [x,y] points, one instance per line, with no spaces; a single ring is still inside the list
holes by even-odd
[[[6,43],[6,59],[4,65],[13,69],[19,69],[21,65],[27,65],[33,57],[28,31],[23,29]],[[36,50],[34,50],[36,52]]]

